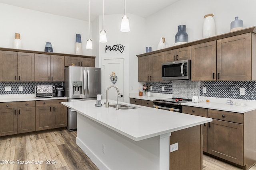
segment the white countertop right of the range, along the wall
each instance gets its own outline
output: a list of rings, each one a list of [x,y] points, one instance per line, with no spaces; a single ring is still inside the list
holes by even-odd
[[[206,109],[215,109],[222,111],[231,111],[236,113],[245,113],[248,111],[252,111],[256,109],[256,106],[236,106],[236,105],[228,105],[223,103],[212,103],[212,102],[199,102],[199,103],[182,103],[184,106],[193,106],[193,107],[202,107]]]

